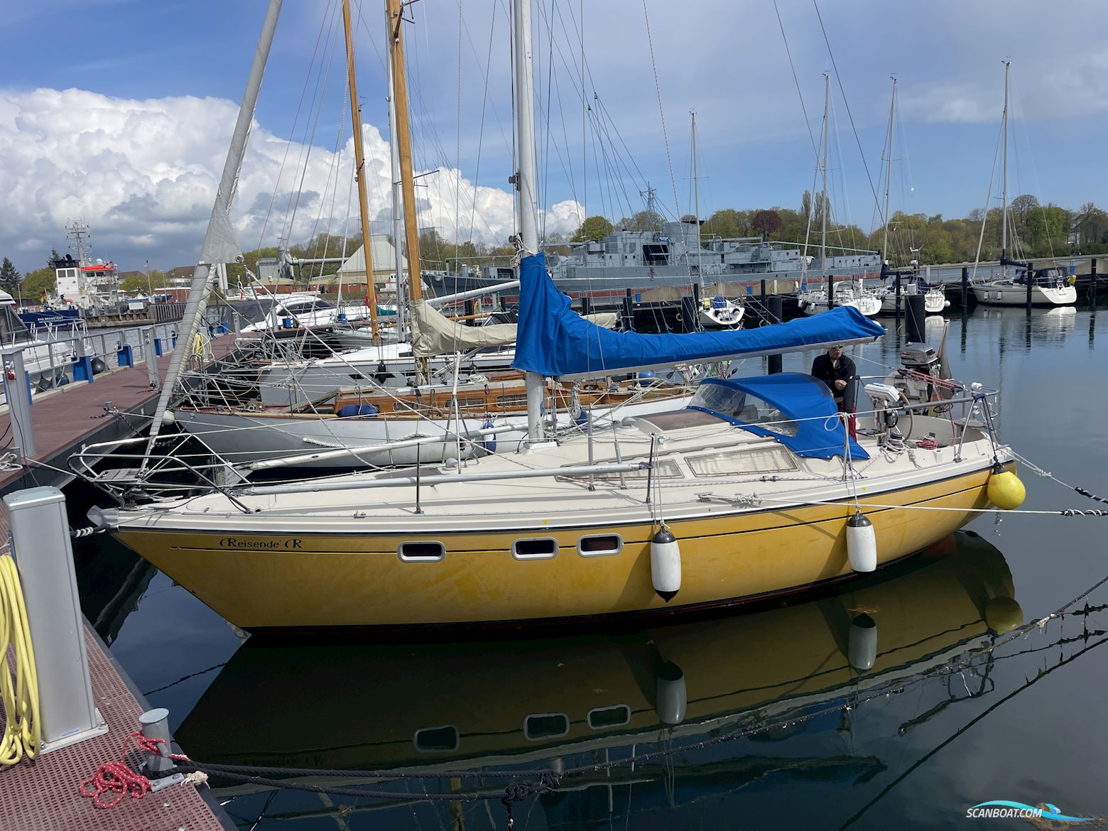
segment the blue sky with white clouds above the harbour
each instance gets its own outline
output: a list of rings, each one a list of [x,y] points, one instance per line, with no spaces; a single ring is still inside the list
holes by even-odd
[[[232,207],[243,250],[357,227],[337,2],[281,11]],[[387,233],[383,2],[351,2],[369,214]],[[428,174],[419,224],[452,242],[502,244],[514,228],[509,6],[407,11],[414,164]],[[124,270],[195,264],[265,11],[265,0],[7,0],[0,257],[40,268],[83,220],[92,256]],[[670,217],[799,207],[817,181],[823,73],[835,222],[881,225],[893,74],[891,212],[997,205],[1005,59],[1009,197],[1108,205],[1102,0],[534,0],[532,23],[547,235],[642,211],[648,186]]]

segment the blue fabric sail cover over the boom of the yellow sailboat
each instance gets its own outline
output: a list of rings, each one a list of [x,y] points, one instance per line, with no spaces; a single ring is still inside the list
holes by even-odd
[[[616,332],[570,308],[546,274],[542,254],[520,265],[520,328],[512,367],[554,377],[697,363],[750,355],[779,355],[829,343],[875,340],[880,324],[849,306],[787,324],[689,335]]]

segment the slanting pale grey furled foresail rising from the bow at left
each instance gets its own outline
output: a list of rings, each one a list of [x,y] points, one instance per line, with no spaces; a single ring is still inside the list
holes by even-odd
[[[247,76],[246,90],[243,93],[243,103],[238,107],[235,132],[232,134],[227,158],[223,164],[219,189],[216,191],[207,233],[204,235],[204,244],[201,246],[199,260],[193,270],[193,284],[188,289],[188,300],[181,318],[183,337],[177,339],[177,347],[170,358],[170,367],[165,371],[165,382],[162,384],[162,392],[157,399],[157,409],[154,410],[154,420],[150,425],[147,454],[153,450],[158,430],[162,429],[162,420],[170,406],[170,398],[173,396],[185,353],[193,348],[193,335],[196,332],[207,306],[208,283],[213,266],[216,263],[240,263],[243,260],[242,249],[238,247],[235,230],[230,225],[230,202],[235,197],[238,172],[243,165],[243,156],[246,154],[246,140],[250,134],[254,107],[258,102],[258,90],[261,89],[261,76],[266,71],[266,61],[269,58],[269,48],[273,45],[274,30],[277,28],[281,0],[269,0],[266,19],[261,25],[261,34],[258,38],[258,48],[254,52],[250,74]]]

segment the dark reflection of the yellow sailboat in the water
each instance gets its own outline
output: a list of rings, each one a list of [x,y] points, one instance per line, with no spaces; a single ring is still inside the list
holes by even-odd
[[[782,738],[781,725],[798,714],[938,667],[1020,623],[1003,555],[960,532],[831,596],[636,633],[331,646],[253,637],[176,736],[201,765],[410,768],[429,776],[570,767],[568,755],[627,758],[633,745],[639,752],[655,743],[687,747],[762,726],[772,729],[755,738]],[[884,769],[873,757],[774,760],[735,746],[724,761],[710,757],[707,767],[684,759],[676,776],[700,790],[730,790],[765,776],[767,766],[852,782]],[[648,770],[674,776],[673,763],[659,759],[634,770],[635,781]],[[585,780],[611,786],[629,776],[623,767]],[[588,781],[566,778],[563,786]],[[252,789],[222,792],[237,798]],[[636,794],[638,807],[647,797]]]

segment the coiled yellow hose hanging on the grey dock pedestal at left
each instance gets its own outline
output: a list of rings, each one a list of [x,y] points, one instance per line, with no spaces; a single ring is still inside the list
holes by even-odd
[[[4,660],[9,646],[16,652],[14,683]],[[14,765],[24,756],[28,759],[38,756],[42,728],[31,627],[27,622],[19,572],[10,554],[0,555],[0,705],[6,717],[0,737],[0,765]]]

